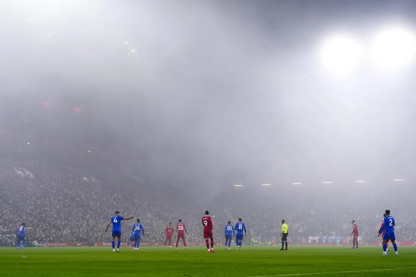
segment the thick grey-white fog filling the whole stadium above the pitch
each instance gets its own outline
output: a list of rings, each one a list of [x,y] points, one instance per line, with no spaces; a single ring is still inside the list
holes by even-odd
[[[221,224],[243,217],[253,243],[275,240],[281,218],[299,241],[348,235],[355,218],[374,243],[390,208],[402,213],[399,240],[414,240],[404,204],[416,181],[415,10],[411,0],[0,2],[3,233],[24,214],[34,239],[104,242],[121,210],[140,216],[149,241],[179,217],[198,241],[208,209]],[[178,202],[187,207],[166,211]],[[46,211],[57,223],[36,219]]]

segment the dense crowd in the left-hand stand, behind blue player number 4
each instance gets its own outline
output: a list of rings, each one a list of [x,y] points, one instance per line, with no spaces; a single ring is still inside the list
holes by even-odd
[[[13,166],[19,164],[35,174],[22,177]],[[183,191],[138,183],[129,178],[100,183],[78,173],[62,172],[52,163],[22,164],[2,160],[0,172],[0,234],[13,235],[21,222],[27,223],[27,235],[46,242],[108,242],[105,226],[116,210],[134,215],[125,221],[122,236],[130,237],[131,226],[140,218],[145,228],[143,239],[159,242],[169,222],[181,218],[186,223],[187,240],[198,241],[199,214]],[[180,205],[187,200],[193,209]],[[195,210],[196,211],[196,210]]]

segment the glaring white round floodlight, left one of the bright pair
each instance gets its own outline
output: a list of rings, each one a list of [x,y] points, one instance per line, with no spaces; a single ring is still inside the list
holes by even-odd
[[[348,35],[334,35],[322,43],[320,57],[325,69],[335,74],[347,74],[359,63],[362,47]]]

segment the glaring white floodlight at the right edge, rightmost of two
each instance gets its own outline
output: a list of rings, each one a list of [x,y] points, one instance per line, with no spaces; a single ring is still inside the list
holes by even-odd
[[[416,54],[415,34],[403,27],[388,27],[376,33],[371,53],[381,69],[392,70],[410,64]]]

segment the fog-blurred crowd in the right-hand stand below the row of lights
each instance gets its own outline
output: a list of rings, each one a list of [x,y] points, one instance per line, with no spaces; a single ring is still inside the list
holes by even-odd
[[[362,241],[374,243],[379,240],[377,235],[384,210],[390,209],[396,220],[396,239],[416,240],[416,214],[412,205],[414,193],[411,186],[397,187],[397,193],[388,198],[383,189],[373,188],[364,188],[359,195],[355,191],[344,191],[339,195],[337,188],[315,188],[312,191],[289,189],[288,194],[281,198],[277,196],[279,192],[276,193],[241,190],[227,194],[228,200],[241,203],[235,208],[227,206],[227,212],[234,219],[243,217],[250,235],[260,237],[263,242],[278,240],[280,221],[285,219],[294,242],[305,242],[309,236],[349,237],[352,232],[351,220],[355,220]],[[251,196],[255,194],[257,197]],[[226,203],[225,199],[218,200],[218,205]]]

